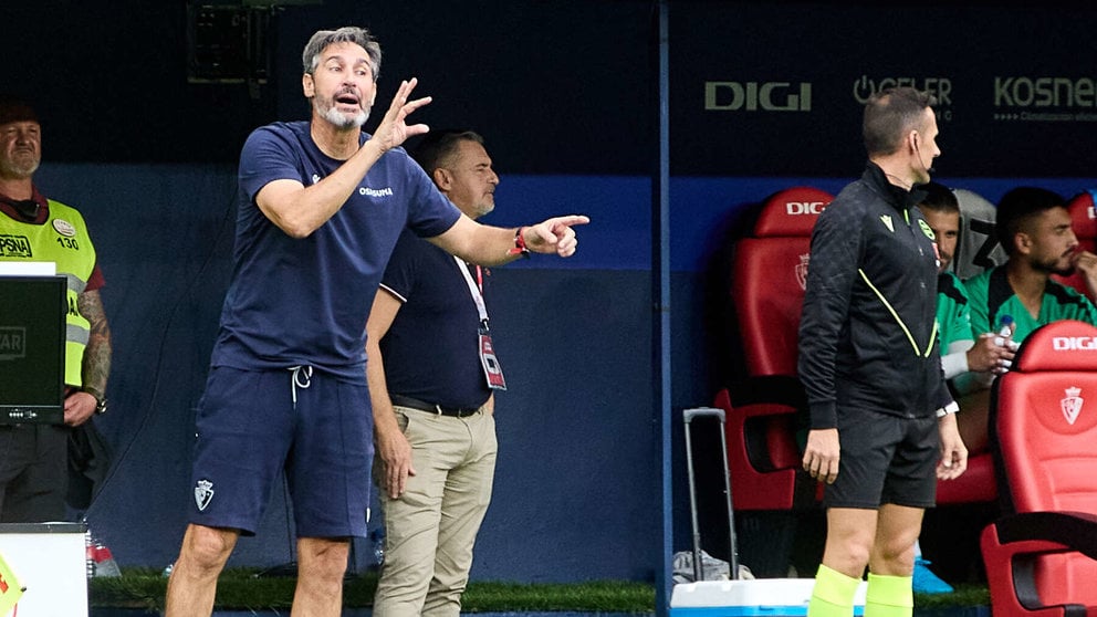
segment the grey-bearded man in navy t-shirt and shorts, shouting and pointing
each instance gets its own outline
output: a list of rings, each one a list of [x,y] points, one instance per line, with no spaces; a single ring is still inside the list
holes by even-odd
[[[477,263],[575,251],[572,226],[481,226],[458,211],[399,147],[401,82],[376,133],[380,46],[364,29],[316,32],[302,54],[312,119],[253,132],[240,155],[236,266],[199,406],[192,499],[168,582],[168,617],[210,615],[217,577],[254,534],[284,471],[297,532],[293,613],[337,616],[349,537],[365,535],[373,422],[365,326],[400,231]]]

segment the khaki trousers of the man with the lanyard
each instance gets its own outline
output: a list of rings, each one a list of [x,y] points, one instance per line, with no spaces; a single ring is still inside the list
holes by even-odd
[[[375,617],[457,617],[472,567],[472,546],[491,501],[495,420],[483,408],[466,418],[395,408],[411,445],[399,499],[380,491],[385,562],[374,596]],[[382,464],[374,463],[378,487]]]

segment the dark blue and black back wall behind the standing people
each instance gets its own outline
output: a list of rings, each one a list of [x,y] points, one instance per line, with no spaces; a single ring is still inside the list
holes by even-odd
[[[794,185],[837,191],[859,172],[852,90],[861,76],[926,83],[943,73],[955,83],[942,116],[947,184],[991,200],[1022,182],[1067,195],[1097,186],[1087,98],[1052,106],[1075,114],[1055,124],[999,118],[1025,111],[1000,109],[992,87],[1003,74],[1091,79],[1093,8],[859,4],[671,2],[676,418],[708,404],[735,370],[727,247],[751,206]],[[114,405],[101,423],[117,467],[88,520],[123,565],[166,565],[184,530],[194,408],[231,269],[239,146],[257,125],[305,116],[297,56],[307,35],[359,23],[385,50],[380,107],[416,75],[435,103],[415,119],[487,136],[503,177],[487,222],[593,219],[574,259],[497,271],[493,321],[513,385],[500,397],[497,489],[473,576],[654,577],[664,464],[651,394],[654,15],[645,1],[288,7],[272,22],[278,71],[249,88],[187,82],[182,3],[0,8],[0,83],[33,95],[43,116],[36,180],[84,211],[107,278]],[[707,81],[812,83],[813,108],[706,109]],[[676,550],[689,546],[679,425]],[[292,560],[288,517],[275,495],[233,563]]]

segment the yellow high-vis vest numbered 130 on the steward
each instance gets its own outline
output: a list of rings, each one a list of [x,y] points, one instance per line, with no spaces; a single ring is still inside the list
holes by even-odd
[[[0,212],[0,261],[52,261],[58,265],[58,274],[67,280],[65,384],[80,387],[91,324],[80,314],[76,297],[84,292],[95,268],[95,248],[80,212],[59,201],[48,201],[50,218],[42,224]]]

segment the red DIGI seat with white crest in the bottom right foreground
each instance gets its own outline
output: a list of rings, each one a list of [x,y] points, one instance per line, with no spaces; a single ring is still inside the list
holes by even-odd
[[[980,538],[994,617],[1097,615],[1097,327],[1048,324],[992,396],[1005,516]]]

